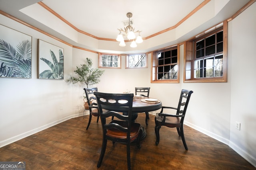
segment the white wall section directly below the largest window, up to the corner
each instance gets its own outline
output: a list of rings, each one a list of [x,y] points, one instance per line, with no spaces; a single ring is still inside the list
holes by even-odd
[[[180,51],[183,52],[183,49],[184,46],[182,46]],[[183,59],[181,59],[181,63],[181,69],[183,70]],[[183,74],[181,76],[183,80]],[[228,145],[230,131],[230,81],[228,80],[225,83],[182,82],[181,86],[182,89],[194,91],[190,98],[185,124]]]

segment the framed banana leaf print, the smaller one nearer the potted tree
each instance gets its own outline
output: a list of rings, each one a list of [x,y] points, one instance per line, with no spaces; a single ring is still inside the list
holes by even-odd
[[[39,78],[64,79],[64,49],[38,39]]]

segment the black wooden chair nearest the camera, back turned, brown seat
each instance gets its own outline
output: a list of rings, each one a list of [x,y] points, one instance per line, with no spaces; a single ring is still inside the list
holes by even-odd
[[[97,167],[99,168],[107,146],[107,141],[126,144],[127,153],[127,166],[128,170],[131,169],[130,160],[130,143],[137,140],[137,147],[140,149],[140,137],[142,128],[139,123],[132,122],[132,101],[133,94],[110,94],[94,92],[98,103],[98,110],[102,124],[103,139],[100,158]],[[106,109],[107,112],[102,110]],[[128,115],[122,115],[119,112],[126,112]],[[116,117],[117,119],[111,120],[107,123],[106,118]]]

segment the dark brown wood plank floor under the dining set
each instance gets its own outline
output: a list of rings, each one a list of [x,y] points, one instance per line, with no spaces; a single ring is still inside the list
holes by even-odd
[[[145,125],[145,114],[136,122]],[[0,161],[25,161],[26,170],[96,170],[102,144],[102,129],[96,117],[88,130],[88,115],[76,117],[0,148]],[[155,145],[154,115],[150,115],[147,136],[138,150],[131,145],[134,170],[255,170],[227,145],[188,126],[184,127],[188,150],[174,128],[160,129]],[[125,170],[126,145],[108,141],[99,170]]]

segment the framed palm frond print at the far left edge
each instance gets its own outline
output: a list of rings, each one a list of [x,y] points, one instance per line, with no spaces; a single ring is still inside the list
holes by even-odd
[[[31,78],[32,37],[0,25],[0,78]]]

